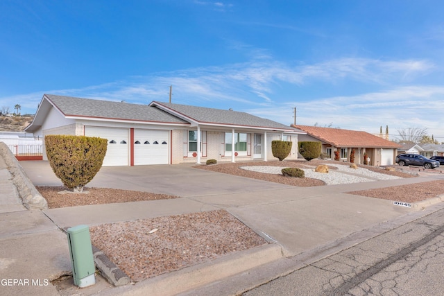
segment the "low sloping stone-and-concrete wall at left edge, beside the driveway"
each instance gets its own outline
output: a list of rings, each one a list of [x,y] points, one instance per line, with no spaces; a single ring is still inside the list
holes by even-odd
[[[43,198],[35,186],[29,180],[22,166],[9,150],[6,143],[0,142],[0,156],[3,157],[8,171],[12,175],[12,183],[17,187],[19,196],[22,198],[22,203],[26,209],[48,209],[48,202]]]

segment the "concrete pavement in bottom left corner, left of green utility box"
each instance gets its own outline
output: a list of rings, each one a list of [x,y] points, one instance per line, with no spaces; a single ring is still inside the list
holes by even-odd
[[[2,157],[0,209],[0,295],[59,295],[50,281],[71,270],[66,235],[22,205]]]

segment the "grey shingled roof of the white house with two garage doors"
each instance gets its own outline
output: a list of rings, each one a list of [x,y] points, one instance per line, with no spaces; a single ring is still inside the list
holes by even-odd
[[[169,123],[174,125],[213,125],[225,128],[256,128],[280,132],[302,133],[288,125],[263,119],[246,112],[220,110],[153,101],[149,105],[103,101],[44,94],[37,114],[26,130],[33,132],[42,126],[51,107],[71,119],[105,121],[137,121],[139,123]]]

